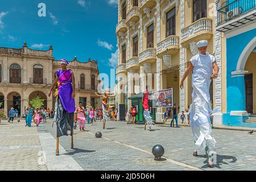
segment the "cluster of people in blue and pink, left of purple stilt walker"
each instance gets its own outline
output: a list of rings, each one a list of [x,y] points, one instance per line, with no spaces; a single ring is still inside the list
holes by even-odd
[[[36,127],[39,126],[40,122],[46,123],[47,111],[46,109],[44,109],[44,107],[36,108],[36,109],[33,109],[32,107],[27,107],[25,111],[25,115],[26,115],[26,126],[31,127],[32,119],[36,124]]]

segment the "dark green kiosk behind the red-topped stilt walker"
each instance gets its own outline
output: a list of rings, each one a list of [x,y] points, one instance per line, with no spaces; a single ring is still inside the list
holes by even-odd
[[[150,93],[150,99],[148,100],[148,105],[150,107],[150,115],[153,119],[153,121],[155,121],[155,113],[156,113],[156,109],[153,108],[153,102],[152,102],[152,92]],[[145,121],[144,121],[144,117],[143,117],[143,106],[142,106],[142,98],[143,98],[143,94],[142,93],[138,93],[135,94],[134,96],[129,97],[128,99],[131,100],[131,106],[135,106],[136,110],[137,110],[137,115],[136,115],[136,119],[135,119],[135,123],[137,125],[144,125]],[[130,108],[127,108],[128,110]]]

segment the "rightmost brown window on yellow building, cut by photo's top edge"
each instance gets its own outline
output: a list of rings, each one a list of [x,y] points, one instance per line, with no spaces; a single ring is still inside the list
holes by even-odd
[[[207,0],[193,0],[193,22],[207,17]]]

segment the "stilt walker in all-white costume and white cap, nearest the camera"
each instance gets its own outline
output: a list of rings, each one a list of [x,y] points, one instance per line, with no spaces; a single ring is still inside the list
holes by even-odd
[[[214,167],[211,159],[212,154],[216,154],[216,140],[212,137],[210,114],[216,113],[217,109],[212,110],[209,88],[210,82],[218,77],[218,65],[215,57],[207,52],[207,44],[207,40],[197,43],[199,53],[189,61],[188,68],[180,82],[180,88],[183,88],[185,78],[193,70],[193,102],[189,107],[191,130],[195,139],[193,156],[197,156],[197,150],[205,150],[208,167]]]

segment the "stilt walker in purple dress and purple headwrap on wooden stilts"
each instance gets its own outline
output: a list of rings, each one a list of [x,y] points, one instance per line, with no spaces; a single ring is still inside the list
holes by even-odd
[[[56,71],[56,78],[52,84],[48,96],[55,85],[58,84],[57,102],[55,104],[55,122],[57,125],[56,155],[59,155],[59,137],[68,136],[71,131],[71,148],[73,148],[73,126],[75,106],[75,76],[71,69],[67,69],[67,60],[62,59],[61,69]]]

